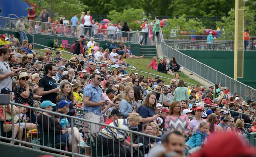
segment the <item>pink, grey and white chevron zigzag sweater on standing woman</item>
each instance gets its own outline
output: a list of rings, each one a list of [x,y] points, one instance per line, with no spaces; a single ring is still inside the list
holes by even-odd
[[[164,123],[165,131],[179,131],[181,133],[186,133],[189,135],[190,132],[190,122],[187,115],[181,115],[179,117],[167,116]]]

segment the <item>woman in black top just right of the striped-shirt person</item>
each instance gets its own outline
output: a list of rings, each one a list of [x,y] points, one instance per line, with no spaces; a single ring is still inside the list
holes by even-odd
[[[150,123],[146,122],[142,125],[142,132],[144,134],[152,135],[152,131],[152,125]],[[139,146],[139,150],[146,155],[149,149],[154,146],[153,143],[155,143],[155,140],[153,138],[148,138],[147,136],[139,136],[134,143],[142,143],[143,145]]]

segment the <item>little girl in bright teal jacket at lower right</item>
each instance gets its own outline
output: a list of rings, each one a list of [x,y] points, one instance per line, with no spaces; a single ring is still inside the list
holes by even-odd
[[[198,128],[193,132],[192,136],[189,138],[187,145],[191,148],[196,146],[202,146],[204,140],[207,138],[207,131],[209,129],[209,124],[207,122],[201,122]]]

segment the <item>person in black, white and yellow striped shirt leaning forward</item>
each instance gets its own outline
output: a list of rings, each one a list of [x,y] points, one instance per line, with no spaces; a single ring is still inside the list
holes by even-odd
[[[105,149],[108,149],[109,154],[114,154],[114,156],[130,156],[131,150],[129,146],[131,143],[126,140],[130,132],[117,130],[111,128],[111,126],[130,130],[130,127],[137,127],[141,120],[142,118],[138,113],[132,113],[127,119],[115,120],[109,124],[110,127],[106,127],[99,132],[98,142],[101,143],[103,148],[106,146]],[[138,144],[132,144],[132,147],[137,148]]]

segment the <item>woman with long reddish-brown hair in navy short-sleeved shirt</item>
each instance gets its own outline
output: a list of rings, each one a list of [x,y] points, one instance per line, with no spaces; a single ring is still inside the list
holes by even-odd
[[[142,131],[142,124],[145,122],[152,122],[158,120],[160,115],[156,114],[156,95],[149,93],[142,105],[138,108],[137,112],[142,116],[142,121],[139,125],[139,131]]]

